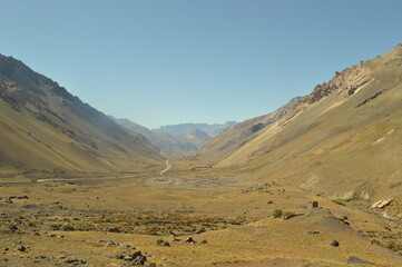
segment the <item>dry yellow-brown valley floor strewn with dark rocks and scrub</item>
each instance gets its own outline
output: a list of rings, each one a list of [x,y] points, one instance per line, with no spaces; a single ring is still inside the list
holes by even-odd
[[[138,251],[148,266],[402,266],[398,221],[275,182],[166,172],[0,197],[0,266],[129,266]]]

